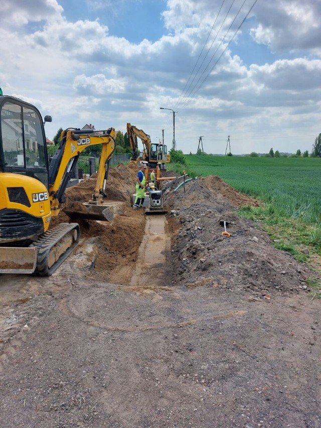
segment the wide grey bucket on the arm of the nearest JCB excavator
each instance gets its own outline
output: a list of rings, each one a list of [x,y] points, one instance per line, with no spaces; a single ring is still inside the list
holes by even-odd
[[[107,205],[91,205],[75,202],[63,209],[71,220],[100,220],[111,221],[114,218],[114,208]]]

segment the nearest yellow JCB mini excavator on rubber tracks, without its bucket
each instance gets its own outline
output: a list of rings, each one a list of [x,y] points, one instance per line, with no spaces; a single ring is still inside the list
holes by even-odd
[[[0,95],[0,118],[0,273],[51,275],[79,241],[77,223],[49,228],[66,200],[77,159],[85,148],[102,144],[101,165],[108,161],[115,150],[115,130],[97,135],[93,129],[66,129],[49,166],[44,123],[51,116],[43,122],[32,104]],[[105,179],[101,165],[96,202]]]

